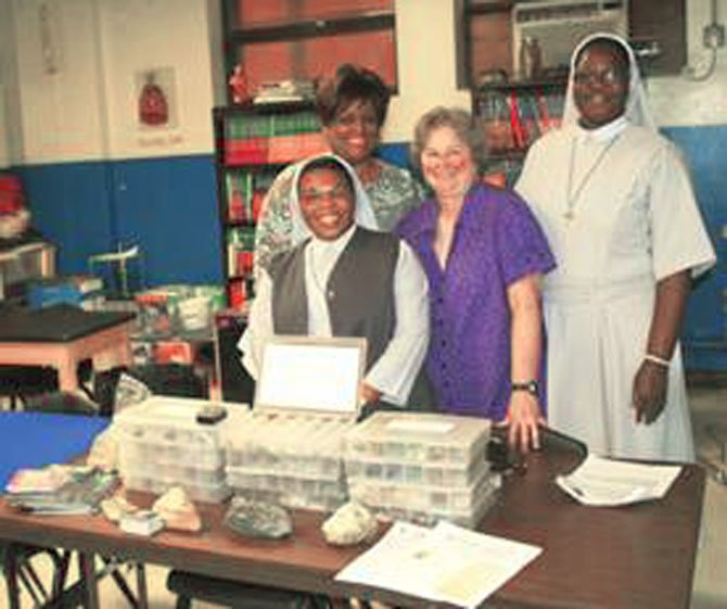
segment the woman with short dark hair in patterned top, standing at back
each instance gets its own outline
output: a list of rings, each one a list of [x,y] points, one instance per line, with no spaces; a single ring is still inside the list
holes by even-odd
[[[423,199],[421,186],[406,169],[373,155],[386,119],[390,91],[370,69],[352,64],[339,67],[316,93],[323,136],[331,150],[356,170],[368,194],[377,225],[391,230]],[[297,163],[286,167],[271,185],[263,203],[255,233],[255,276],[279,253],[308,234],[291,219],[291,190]]]

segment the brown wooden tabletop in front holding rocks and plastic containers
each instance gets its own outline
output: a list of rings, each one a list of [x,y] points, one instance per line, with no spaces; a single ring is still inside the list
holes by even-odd
[[[686,466],[668,496],[625,508],[587,508],[552,482],[578,458],[552,446],[527,459],[527,473],[508,479],[482,529],[537,544],[543,554],[490,601],[506,608],[685,609],[689,606],[704,471]],[[143,502],[139,499],[142,498]],[[132,496],[149,504],[150,497]],[[385,591],[343,585],[333,575],[362,547],[328,546],[323,516],[295,513],[294,537],[262,542],[235,537],[221,524],[224,506],[203,506],[200,535],[162,532],[137,538],[94,517],[33,517],[0,502],[0,537],[114,555],[254,584],[378,598],[400,607],[423,601]],[[91,597],[98,598],[92,592]],[[428,607],[434,607],[428,602]]]

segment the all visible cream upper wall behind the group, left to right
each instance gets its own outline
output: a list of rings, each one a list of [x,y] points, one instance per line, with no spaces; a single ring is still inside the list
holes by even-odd
[[[727,24],[727,0],[717,1]],[[43,63],[43,3],[54,74]],[[711,0],[687,7],[697,64]],[[434,105],[470,107],[469,91],[456,85],[454,0],[395,0],[395,8],[399,91],[384,132],[394,142],[408,141]],[[212,152],[211,109],[225,102],[226,87],[219,0],[0,0],[0,166]],[[177,124],[141,128],[138,74],[165,67],[174,71]],[[727,49],[705,83],[663,77],[648,88],[661,125],[727,124]]]

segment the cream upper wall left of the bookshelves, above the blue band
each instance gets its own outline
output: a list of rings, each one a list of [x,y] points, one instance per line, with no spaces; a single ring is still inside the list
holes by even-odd
[[[40,11],[50,9],[51,52],[44,61]],[[224,89],[212,74],[211,24],[217,0],[0,0],[11,13],[17,40],[13,86],[20,106],[8,110],[21,125],[16,163],[208,153],[213,149],[211,109]],[[4,38],[4,37],[3,37]],[[44,37],[48,39],[48,33]],[[221,48],[216,47],[221,55]],[[137,75],[174,71],[177,124],[139,127]],[[1,74],[1,73],[0,73]],[[0,80],[2,84],[2,80]],[[5,85],[5,92],[8,86]],[[5,94],[5,105],[8,105]],[[8,145],[0,144],[0,151]],[[0,156],[0,161],[1,161]]]

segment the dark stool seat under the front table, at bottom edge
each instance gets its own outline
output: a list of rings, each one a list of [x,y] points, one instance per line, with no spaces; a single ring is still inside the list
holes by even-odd
[[[176,609],[190,609],[193,599],[233,609],[316,609],[328,606],[324,599],[302,592],[255,586],[177,570],[169,572],[167,588],[177,595]]]

